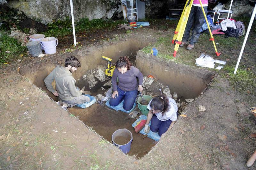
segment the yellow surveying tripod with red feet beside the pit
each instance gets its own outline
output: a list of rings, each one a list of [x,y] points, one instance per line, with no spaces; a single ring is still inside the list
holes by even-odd
[[[176,57],[176,53],[177,53],[177,51],[179,49],[179,46],[181,44],[182,37],[183,37],[184,31],[185,31],[185,28],[186,28],[186,25],[187,25],[187,22],[188,22],[188,17],[189,17],[189,13],[191,11],[193,1],[194,0],[187,0],[186,1],[186,4],[185,4],[184,9],[182,11],[182,14],[180,16],[179,23],[176,27],[176,30],[174,31],[174,36],[173,36],[173,39],[172,39],[172,44],[175,44],[174,53],[173,53],[174,57]],[[214,38],[212,36],[212,31],[211,31],[211,28],[209,26],[208,20],[206,18],[206,14],[204,12],[203,4],[202,4],[201,0],[199,0],[199,2],[200,2],[202,11],[204,13],[205,21],[206,21],[206,24],[208,26],[208,29],[209,29],[209,32],[210,32],[210,35],[211,35],[211,38],[209,40],[212,41],[212,43],[213,43],[213,46],[215,48],[215,54],[217,56],[220,56],[220,53],[218,53],[218,51],[217,51],[217,48],[216,48],[216,45],[215,45],[215,42],[214,42]]]

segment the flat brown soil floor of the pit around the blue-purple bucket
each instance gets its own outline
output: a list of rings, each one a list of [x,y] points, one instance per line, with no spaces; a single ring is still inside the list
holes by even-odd
[[[82,109],[79,107],[72,107],[69,112],[78,116],[79,120],[83,121],[87,126],[92,127],[104,139],[112,142],[112,134],[117,129],[128,129],[132,132],[132,146],[128,155],[135,155],[136,158],[141,158],[146,155],[156,142],[148,137],[143,138],[143,135],[135,133],[132,123],[136,119],[125,119],[127,113],[116,112],[114,110],[106,109],[99,104],[93,104],[91,107]]]

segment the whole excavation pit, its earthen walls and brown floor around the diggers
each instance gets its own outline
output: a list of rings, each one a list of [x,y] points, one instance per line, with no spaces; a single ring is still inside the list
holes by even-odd
[[[107,62],[101,59],[102,55],[112,58],[112,63],[115,63],[120,56],[129,56],[133,65],[136,65],[144,76],[150,74],[156,78],[156,81],[153,82],[156,84],[156,87],[157,83],[162,82],[164,88],[167,86],[172,94],[173,92],[177,92],[180,99],[195,99],[204,91],[214,77],[212,72],[191,68],[140,51],[143,47],[148,46],[149,43],[154,43],[154,40],[126,38],[123,41],[103,43],[90,48],[82,48],[75,50],[72,53],[60,54],[49,59],[20,67],[20,74],[25,78],[28,78],[37,87],[42,88],[55,101],[58,99],[46,89],[44,78],[57,65],[63,65],[68,56],[76,56],[82,64],[82,67],[78,68],[77,71],[73,73],[73,77],[76,79],[76,86],[82,88],[85,85],[85,90],[90,90],[92,95],[104,95],[104,92],[109,87],[103,86],[108,82],[108,80],[106,80],[103,82],[98,81],[98,83],[90,89],[88,84],[82,80],[83,75],[88,70],[93,70],[99,65],[106,65]],[[104,87],[104,89],[101,87]],[[147,92],[147,95],[151,92],[160,94],[164,90],[163,88],[160,89],[151,89],[150,92]],[[78,117],[88,127],[92,127],[96,133],[109,142],[112,142],[111,136],[117,129],[125,128],[130,130],[133,136],[131,151],[128,153],[130,156],[135,155],[136,158],[141,158],[156,144],[156,141],[148,137],[143,138],[143,135],[140,133],[135,134],[132,123],[135,122],[136,119],[127,119],[127,113],[121,111],[116,112],[115,110],[103,107],[98,103],[85,109],[75,106],[70,108],[69,112]]]

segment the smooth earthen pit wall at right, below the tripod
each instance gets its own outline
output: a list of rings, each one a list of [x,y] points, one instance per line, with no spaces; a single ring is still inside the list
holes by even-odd
[[[136,67],[144,76],[152,75],[169,86],[171,93],[185,99],[196,98],[211,82],[215,73],[159,58],[138,51]]]

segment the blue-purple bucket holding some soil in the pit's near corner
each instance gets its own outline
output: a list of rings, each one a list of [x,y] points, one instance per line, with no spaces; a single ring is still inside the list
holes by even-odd
[[[129,137],[131,140],[127,143],[127,144],[116,144],[115,143],[115,139],[118,136],[122,136],[122,137]],[[118,129],[116,130],[113,134],[112,134],[112,142],[114,143],[115,146],[119,147],[119,149],[124,153],[127,154],[128,152],[130,152],[131,150],[131,144],[132,144],[132,132],[130,132],[130,130],[127,129]]]

